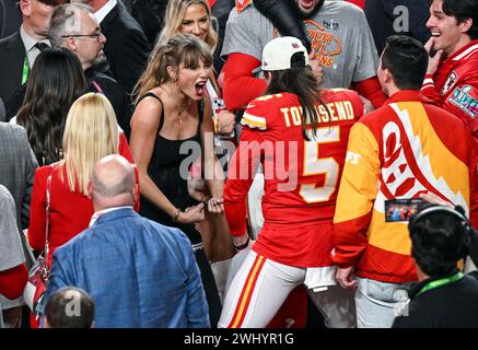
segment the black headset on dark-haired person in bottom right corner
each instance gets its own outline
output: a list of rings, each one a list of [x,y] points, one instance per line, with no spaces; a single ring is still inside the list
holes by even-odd
[[[459,226],[463,228],[464,242],[460,250],[462,257],[465,257],[468,255],[468,250],[471,244],[471,237],[474,236],[474,229],[469,220],[458,210],[463,210],[463,208],[460,206],[455,207],[455,209],[444,206],[432,206],[424,208],[423,210],[419,211],[410,218],[408,228],[410,231],[412,231],[419,222],[424,220],[423,218],[430,217],[431,214],[443,213],[453,217],[454,219],[456,219]]]

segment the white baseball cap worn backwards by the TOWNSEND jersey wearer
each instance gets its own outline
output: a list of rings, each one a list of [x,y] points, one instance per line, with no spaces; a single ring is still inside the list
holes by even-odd
[[[303,52],[305,60],[292,62],[292,56]],[[271,39],[263,50],[263,67],[265,71],[304,68],[308,66],[307,49],[300,39],[293,36],[281,36]]]

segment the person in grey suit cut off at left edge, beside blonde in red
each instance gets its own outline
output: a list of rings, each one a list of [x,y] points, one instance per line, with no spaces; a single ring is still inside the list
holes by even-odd
[[[0,122],[0,184],[5,186],[13,196],[16,225],[20,230],[28,228],[33,178],[38,163],[30,147],[25,129],[16,125]],[[20,230],[18,230],[18,235],[22,241],[26,265],[31,267],[33,256],[26,248]],[[19,306],[24,304],[23,300],[10,301],[0,296],[0,304],[3,308],[5,324],[18,324],[21,315]]]

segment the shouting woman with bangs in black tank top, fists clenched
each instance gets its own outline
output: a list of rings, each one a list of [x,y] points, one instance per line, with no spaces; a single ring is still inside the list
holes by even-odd
[[[138,164],[143,217],[180,229],[189,237],[201,271],[211,325],[219,319],[221,302],[195,223],[203,220],[205,205],[223,211],[223,175],[213,149],[213,124],[206,82],[210,48],[193,35],[176,35],[152,55],[138,85],[131,119],[131,153]],[[188,194],[188,167],[200,160],[212,197],[195,201]]]

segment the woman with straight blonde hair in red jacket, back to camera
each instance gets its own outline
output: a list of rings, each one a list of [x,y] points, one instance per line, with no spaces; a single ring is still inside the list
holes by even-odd
[[[65,125],[63,159],[38,167],[30,209],[28,243],[34,250],[45,248],[45,226],[49,220],[47,264],[55,249],[89,226],[93,203],[88,184],[93,167],[105,155],[118,153],[119,132],[109,101],[88,93],[71,106]],[[131,161],[127,144],[121,155]],[[46,218],[47,188],[49,218]]]

